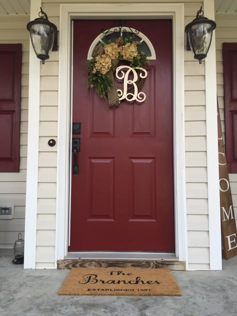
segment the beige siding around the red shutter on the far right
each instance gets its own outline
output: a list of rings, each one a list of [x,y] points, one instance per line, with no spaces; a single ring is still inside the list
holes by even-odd
[[[237,13],[216,14],[216,81],[217,97],[220,111],[221,127],[224,139],[224,86],[223,86],[223,63],[222,43],[237,42]],[[225,139],[224,139],[225,141]],[[237,224],[237,173],[229,174],[230,188],[233,199],[234,215]]]

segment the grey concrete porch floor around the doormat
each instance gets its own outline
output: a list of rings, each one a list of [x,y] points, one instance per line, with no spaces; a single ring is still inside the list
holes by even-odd
[[[24,270],[0,249],[1,316],[236,316],[237,256],[222,271],[172,271],[182,296],[59,296],[69,270]]]

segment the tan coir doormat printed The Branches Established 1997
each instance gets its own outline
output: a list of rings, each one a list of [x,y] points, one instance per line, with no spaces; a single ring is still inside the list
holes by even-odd
[[[182,295],[166,268],[72,268],[58,294]]]

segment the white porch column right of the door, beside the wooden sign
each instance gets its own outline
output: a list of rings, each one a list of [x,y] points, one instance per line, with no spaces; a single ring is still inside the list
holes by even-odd
[[[214,20],[214,0],[203,0],[204,16]],[[221,270],[215,34],[205,58],[206,151],[210,269]]]

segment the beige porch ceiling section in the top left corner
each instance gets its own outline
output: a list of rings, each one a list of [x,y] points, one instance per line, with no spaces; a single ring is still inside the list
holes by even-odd
[[[0,0],[0,14],[22,15],[30,13],[30,0]]]

